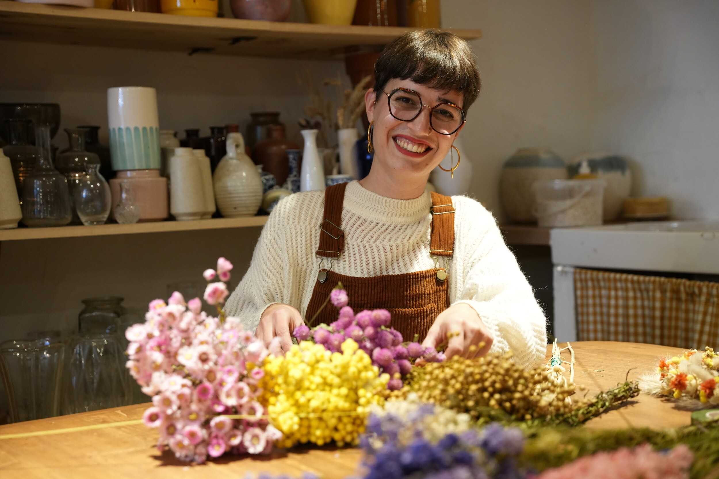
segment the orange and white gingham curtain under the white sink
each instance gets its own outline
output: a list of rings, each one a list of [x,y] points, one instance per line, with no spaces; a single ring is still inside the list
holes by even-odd
[[[719,283],[574,269],[582,341],[719,346]]]

